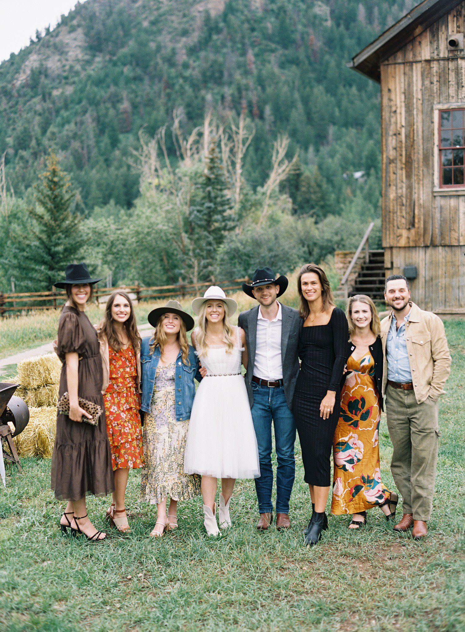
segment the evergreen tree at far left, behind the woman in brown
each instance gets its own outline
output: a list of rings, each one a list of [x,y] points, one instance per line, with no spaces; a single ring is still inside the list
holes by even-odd
[[[68,176],[51,152],[35,186],[36,204],[28,210],[27,228],[15,235],[12,263],[21,286],[52,289],[66,265],[80,258],[83,238],[74,200]]]

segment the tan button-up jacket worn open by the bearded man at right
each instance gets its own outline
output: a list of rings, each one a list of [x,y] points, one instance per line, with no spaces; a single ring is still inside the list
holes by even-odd
[[[409,354],[410,370],[416,401],[421,404],[430,397],[439,399],[450,373],[450,353],[442,320],[432,312],[410,303],[409,320],[406,322],[406,346]],[[386,341],[393,313],[381,321],[381,341],[383,343],[383,396],[387,384]]]

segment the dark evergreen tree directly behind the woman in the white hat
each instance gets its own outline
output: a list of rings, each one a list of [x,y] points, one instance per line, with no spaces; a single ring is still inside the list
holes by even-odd
[[[224,168],[212,138],[205,157],[205,171],[196,187],[195,201],[188,213],[193,270],[186,270],[194,281],[213,279],[217,250],[228,231],[234,228],[233,202],[227,193]]]

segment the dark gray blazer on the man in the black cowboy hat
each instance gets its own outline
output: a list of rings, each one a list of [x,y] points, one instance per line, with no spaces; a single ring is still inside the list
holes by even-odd
[[[284,383],[284,394],[286,395],[287,406],[293,409],[294,390],[299,375],[299,333],[303,324],[299,312],[292,307],[283,305],[282,307],[282,329],[281,329],[281,358],[282,358],[282,380]],[[245,331],[248,368],[245,375],[245,385],[249,396],[250,407],[253,404],[252,377],[255,366],[255,349],[257,347],[257,319],[258,305],[241,312],[239,314],[238,325]]]

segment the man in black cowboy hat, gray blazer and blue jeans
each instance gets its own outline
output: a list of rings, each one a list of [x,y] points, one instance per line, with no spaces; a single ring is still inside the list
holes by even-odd
[[[296,425],[292,413],[294,388],[299,374],[298,343],[302,326],[297,310],[282,305],[277,297],[286,291],[287,278],[275,278],[270,268],[257,269],[250,285],[242,289],[258,301],[257,307],[239,314],[248,349],[245,383],[257,435],[260,478],[255,478],[260,520],[265,531],[272,523],[273,468],[271,465],[274,424],[276,456],[276,527],[288,529],[289,499],[296,463],[294,442]]]

